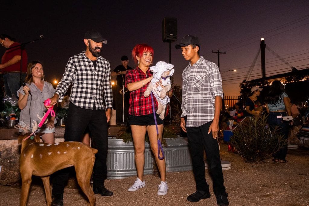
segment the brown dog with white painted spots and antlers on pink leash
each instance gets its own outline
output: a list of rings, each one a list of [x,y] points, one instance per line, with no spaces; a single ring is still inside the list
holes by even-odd
[[[90,179],[95,162],[95,153],[98,150],[81,142],[46,144],[40,142],[40,136],[43,136],[44,133],[34,135],[33,140],[27,138],[31,134],[26,133],[18,138],[18,143],[21,143],[19,160],[22,178],[20,205],[27,204],[32,175],[40,176],[43,180],[46,202],[47,205],[51,205],[49,175],[70,166],[75,167],[78,184],[89,200],[88,205],[95,205],[95,196],[90,186]]]

